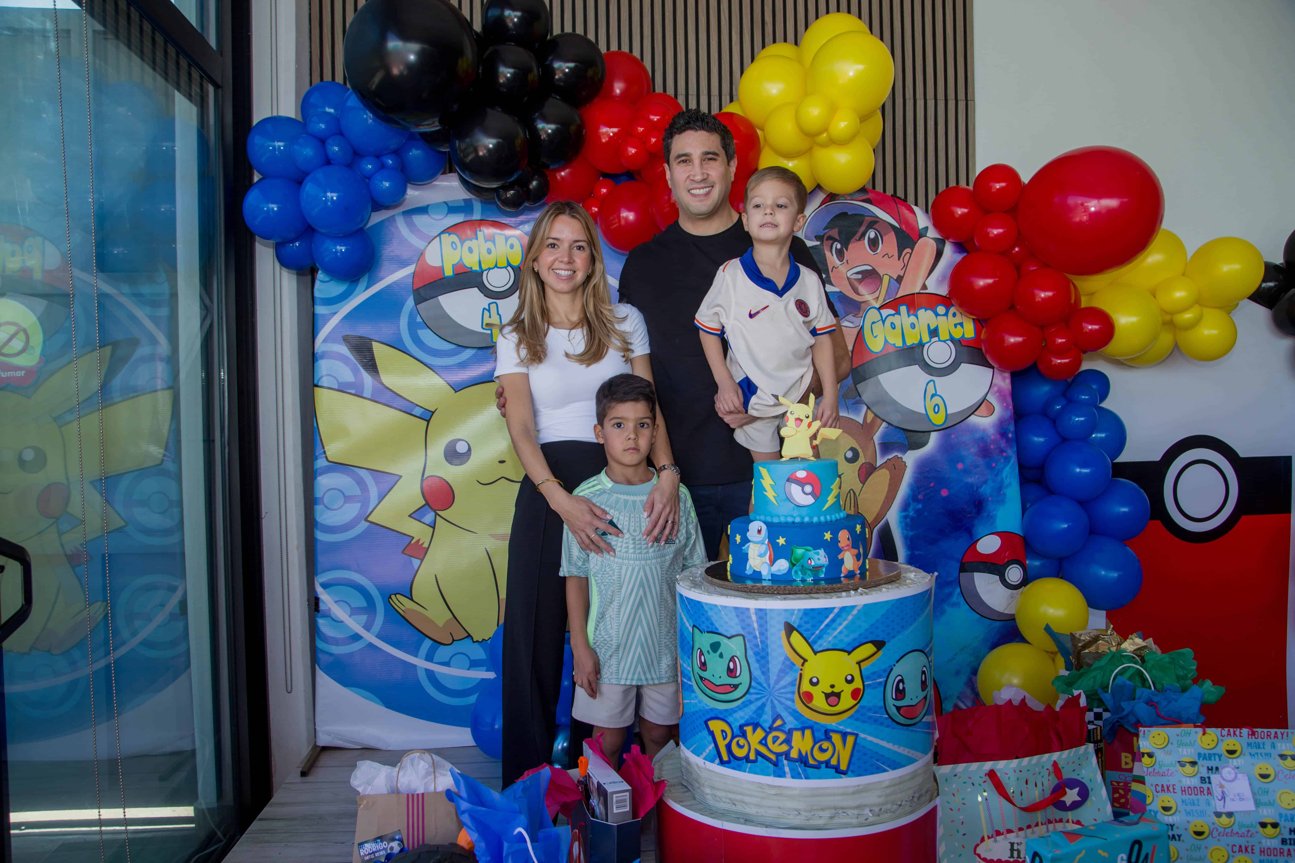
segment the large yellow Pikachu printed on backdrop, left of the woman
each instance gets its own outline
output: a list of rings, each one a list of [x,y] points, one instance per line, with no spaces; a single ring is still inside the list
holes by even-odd
[[[324,453],[396,476],[366,521],[409,537],[418,559],[409,593],[387,602],[439,644],[482,642],[504,620],[508,537],[522,481],[495,384],[456,391],[429,366],[382,342],[343,338],[355,361],[387,389],[431,411],[422,419],[338,389],[315,387]],[[435,514],[433,524],[414,518]]]

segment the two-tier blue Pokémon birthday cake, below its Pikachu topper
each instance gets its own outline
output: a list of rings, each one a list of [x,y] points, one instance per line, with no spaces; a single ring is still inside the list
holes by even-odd
[[[755,508],[729,524],[729,580],[825,584],[866,577],[868,524],[840,507],[837,461],[755,463]]]

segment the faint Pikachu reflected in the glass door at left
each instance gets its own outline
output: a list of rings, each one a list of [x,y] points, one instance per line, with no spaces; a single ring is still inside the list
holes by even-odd
[[[74,569],[84,559],[83,540],[126,524],[93,484],[162,463],[174,393],[155,389],[124,399],[82,413],[79,423],[60,426],[56,418],[93,397],[135,347],[127,339],[84,353],[35,384],[31,395],[0,389],[0,536],[31,554],[35,589],[31,617],[4,643],[6,651],[62,653],[84,640],[107,611],[104,602],[87,611]],[[80,521],[83,515],[84,524],[60,532],[63,516]],[[9,613],[21,603],[18,568],[8,567],[0,576],[0,606]]]

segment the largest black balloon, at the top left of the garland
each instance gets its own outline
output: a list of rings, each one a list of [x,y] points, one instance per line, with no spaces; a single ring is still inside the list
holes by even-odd
[[[369,0],[346,28],[346,76],[382,120],[430,129],[477,78],[477,41],[445,0]]]

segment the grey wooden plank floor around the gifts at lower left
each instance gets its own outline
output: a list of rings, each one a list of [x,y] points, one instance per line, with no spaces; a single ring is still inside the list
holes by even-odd
[[[500,762],[477,747],[433,749],[482,784],[499,789]],[[225,863],[351,863],[355,842],[355,789],[351,771],[356,761],[395,765],[401,752],[382,749],[324,749],[308,776],[295,772],[238,840]],[[642,863],[654,863],[651,814],[644,819]]]

